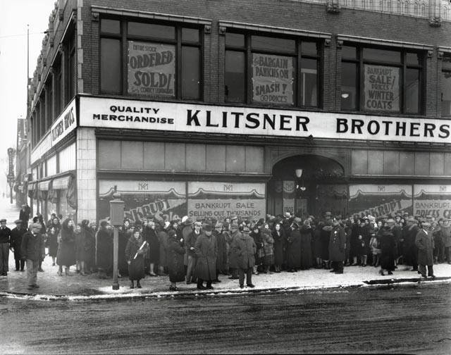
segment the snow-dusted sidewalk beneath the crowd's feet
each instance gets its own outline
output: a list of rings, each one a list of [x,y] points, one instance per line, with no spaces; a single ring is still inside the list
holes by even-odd
[[[58,276],[58,266],[51,266],[51,258],[46,257],[38,273],[39,289],[28,290],[26,271],[15,271],[13,253],[10,254],[8,277],[0,277],[0,295],[10,297],[25,297],[34,299],[118,299],[140,297],[193,297],[197,294],[235,294],[241,292],[281,292],[306,289],[333,289],[341,287],[362,287],[366,285],[383,285],[396,282],[418,282],[419,274],[403,270],[400,266],[393,275],[381,276],[379,268],[373,266],[349,266],[345,273],[335,275],[329,270],[310,269],[297,273],[273,273],[252,275],[254,289],[240,289],[237,280],[229,280],[228,276],[220,275],[220,283],[214,284],[214,290],[199,291],[195,284],[178,283],[180,291],[169,292],[168,276],[149,277],[142,280],[142,289],[130,289],[128,278],[120,278],[120,289],[113,290],[113,280],[101,280],[97,274],[81,276],[74,271],[73,276]],[[72,268],[74,269],[74,267]],[[451,282],[451,265],[442,263],[434,265],[435,280],[424,282]]]

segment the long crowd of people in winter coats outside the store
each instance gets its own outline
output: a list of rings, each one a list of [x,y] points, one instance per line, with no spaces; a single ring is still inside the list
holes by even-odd
[[[25,209],[24,209],[25,208]],[[113,226],[51,215],[44,223],[38,214],[29,224],[27,206],[20,211],[16,228],[0,220],[0,274],[8,272],[8,249],[14,251],[16,270],[27,266],[29,289],[37,286],[42,261],[51,257],[58,275],[113,274]],[[133,222],[133,223],[132,223]],[[224,220],[192,220],[184,216],[149,216],[124,219],[118,238],[118,275],[130,279],[130,288],[141,288],[146,276],[168,275],[169,289],[177,282],[213,289],[219,275],[238,280],[240,287],[254,287],[252,275],[295,273],[322,268],[341,274],[348,266],[373,266],[381,275],[395,269],[417,271],[434,278],[433,264],[451,263],[451,220],[433,216],[414,218],[408,213],[390,218],[373,216],[323,216],[299,218],[290,213],[257,221],[230,216]],[[7,244],[8,243],[8,244]],[[6,251],[4,251],[4,249]],[[46,251],[47,250],[47,251]],[[426,270],[427,268],[427,270]],[[135,283],[136,282],[136,283]]]

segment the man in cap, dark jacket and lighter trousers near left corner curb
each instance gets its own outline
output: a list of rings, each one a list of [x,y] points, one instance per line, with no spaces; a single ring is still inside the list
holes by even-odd
[[[44,259],[45,246],[44,238],[39,234],[42,225],[33,223],[31,232],[26,232],[22,237],[21,254],[22,258],[27,261],[27,280],[28,289],[39,288],[37,285],[37,268],[39,261]]]

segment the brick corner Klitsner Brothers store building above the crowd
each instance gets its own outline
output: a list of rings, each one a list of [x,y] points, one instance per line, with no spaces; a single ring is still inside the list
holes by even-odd
[[[449,216],[449,4],[397,3],[58,1],[34,211],[101,220],[117,190],[132,220]]]

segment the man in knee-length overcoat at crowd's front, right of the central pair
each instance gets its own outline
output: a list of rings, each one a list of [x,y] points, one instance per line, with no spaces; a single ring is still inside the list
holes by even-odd
[[[240,287],[245,287],[245,274],[246,283],[248,287],[254,287],[252,285],[252,268],[255,265],[254,254],[257,252],[257,246],[254,239],[250,236],[249,228],[245,227],[241,231],[231,245],[231,248],[237,255],[238,273],[240,274]]]

